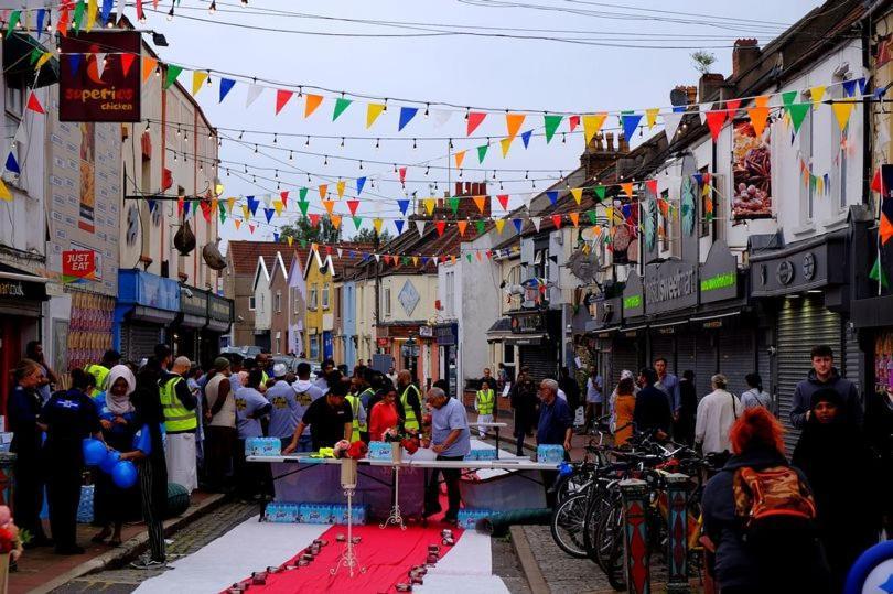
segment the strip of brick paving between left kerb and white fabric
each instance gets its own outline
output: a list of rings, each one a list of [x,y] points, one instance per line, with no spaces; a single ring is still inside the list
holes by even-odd
[[[255,515],[257,515],[257,505],[235,501],[224,504],[183,530],[177,531],[173,536],[173,542],[168,546],[168,559],[173,561],[197,551]],[[140,582],[153,577],[162,571],[164,570],[141,571],[130,568],[108,570],[85,575],[53,592],[58,594],[73,592],[123,594],[133,592]]]

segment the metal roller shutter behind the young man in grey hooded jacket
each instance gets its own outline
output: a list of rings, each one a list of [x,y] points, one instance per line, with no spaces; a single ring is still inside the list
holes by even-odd
[[[836,355],[842,353],[840,316],[826,310],[820,296],[785,299],[778,312],[778,417],[787,430],[788,453],[794,451],[800,436],[790,425],[794,389],[809,374],[813,367],[809,350],[819,344],[829,345]]]

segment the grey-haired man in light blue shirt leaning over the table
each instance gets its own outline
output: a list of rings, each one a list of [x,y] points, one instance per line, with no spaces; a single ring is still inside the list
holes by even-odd
[[[431,407],[431,450],[438,460],[462,460],[471,451],[471,432],[469,431],[469,415],[465,406],[455,398],[450,398],[440,388],[428,390],[428,404]],[[443,515],[443,521],[455,523],[459,516],[461,495],[459,468],[443,468],[443,482],[446,483],[446,497],[450,507]],[[426,493],[424,516],[432,516],[441,510],[438,495],[440,494],[440,472],[438,468],[431,473],[431,482]]]

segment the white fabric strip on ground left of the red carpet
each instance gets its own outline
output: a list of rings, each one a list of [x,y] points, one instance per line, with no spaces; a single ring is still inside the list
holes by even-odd
[[[136,592],[220,592],[250,576],[252,571],[284,563],[329,528],[259,522],[255,516],[197,552],[170,563],[175,568],[173,571],[147,580]]]

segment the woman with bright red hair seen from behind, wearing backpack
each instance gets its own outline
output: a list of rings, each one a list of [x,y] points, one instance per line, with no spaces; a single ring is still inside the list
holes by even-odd
[[[771,522],[754,520],[756,503],[776,503],[749,488],[749,480],[761,476],[786,479],[790,495],[786,503],[799,504],[806,516],[815,515],[806,477],[785,458],[783,434],[766,409],[744,411],[729,431],[732,457],[704,488],[703,532],[710,540],[708,549],[716,551],[713,575],[723,594],[830,591],[821,546],[808,519],[797,518],[803,521],[796,528],[777,523],[784,516],[772,512]]]

